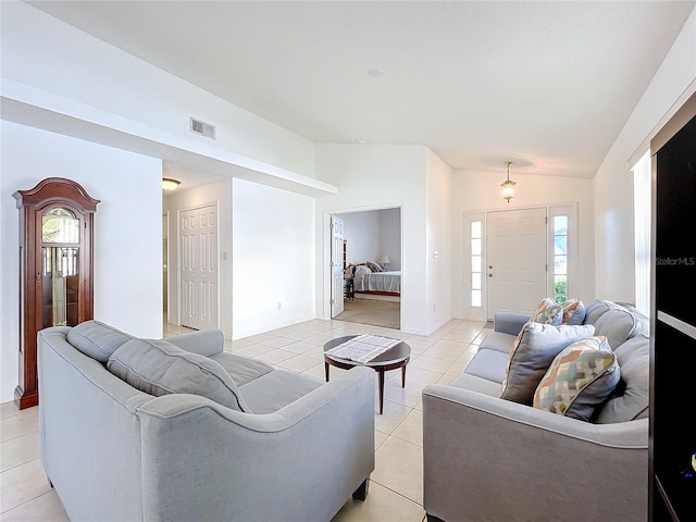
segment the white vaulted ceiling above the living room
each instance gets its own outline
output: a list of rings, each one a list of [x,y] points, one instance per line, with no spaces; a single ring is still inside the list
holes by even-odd
[[[316,144],[574,177],[595,174],[696,4],[27,3]]]

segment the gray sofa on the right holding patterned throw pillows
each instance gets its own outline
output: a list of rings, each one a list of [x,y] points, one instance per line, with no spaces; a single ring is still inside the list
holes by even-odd
[[[515,336],[548,330],[529,319],[496,314],[464,373],[423,390],[428,521],[647,520],[648,320],[627,304],[587,306],[580,324],[607,337],[620,380],[579,420],[500,398]]]

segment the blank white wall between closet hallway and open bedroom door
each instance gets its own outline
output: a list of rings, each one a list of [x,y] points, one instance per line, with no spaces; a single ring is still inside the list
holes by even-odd
[[[314,319],[314,199],[233,184],[233,338]]]

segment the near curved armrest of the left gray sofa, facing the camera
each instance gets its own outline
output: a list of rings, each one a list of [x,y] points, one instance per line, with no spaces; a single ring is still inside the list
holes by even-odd
[[[138,410],[145,520],[331,520],[374,469],[375,374],[270,414],[167,395]]]

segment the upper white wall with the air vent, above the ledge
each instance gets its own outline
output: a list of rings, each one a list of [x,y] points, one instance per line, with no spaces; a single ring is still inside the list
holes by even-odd
[[[3,78],[314,177],[310,140],[32,5],[3,1],[0,9]],[[190,116],[215,125],[216,139],[190,133]]]

